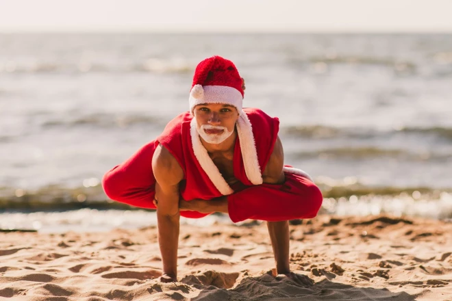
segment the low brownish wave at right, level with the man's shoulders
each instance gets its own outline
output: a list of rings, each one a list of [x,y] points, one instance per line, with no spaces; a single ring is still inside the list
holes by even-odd
[[[297,138],[331,139],[331,138],[379,138],[388,135],[423,135],[435,136],[446,140],[452,140],[452,128],[450,127],[400,127],[390,131],[377,131],[363,127],[338,128],[325,125],[302,125],[281,127],[280,133]]]

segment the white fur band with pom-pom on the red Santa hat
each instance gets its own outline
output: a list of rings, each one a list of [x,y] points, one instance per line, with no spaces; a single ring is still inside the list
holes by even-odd
[[[190,91],[190,112],[193,114],[195,105],[201,103],[225,103],[234,105],[237,112],[242,112],[243,96],[236,88],[228,86],[201,86],[194,85]],[[200,90],[199,88],[202,88]]]

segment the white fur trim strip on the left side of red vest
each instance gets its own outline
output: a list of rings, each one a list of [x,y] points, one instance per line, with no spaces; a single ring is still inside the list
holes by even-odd
[[[196,119],[192,119],[190,122],[190,135],[192,138],[192,146],[194,157],[198,159],[199,165],[205,171],[205,173],[209,176],[210,181],[214,183],[216,189],[218,189],[223,196],[227,196],[229,194],[233,194],[234,190],[229,187],[226,183],[223,175],[220,173],[218,168],[216,167],[214,161],[209,157],[209,154],[203,144],[201,143],[201,139],[199,138]]]

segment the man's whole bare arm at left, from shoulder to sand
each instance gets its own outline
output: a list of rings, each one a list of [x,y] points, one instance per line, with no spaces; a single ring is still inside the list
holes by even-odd
[[[158,200],[158,242],[163,261],[163,282],[177,281],[179,243],[179,182],[184,171],[171,153],[159,145],[152,158],[155,176],[155,200]]]

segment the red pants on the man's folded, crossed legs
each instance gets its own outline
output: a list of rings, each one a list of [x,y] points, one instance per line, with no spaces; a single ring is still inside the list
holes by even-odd
[[[108,197],[128,205],[155,209],[155,179],[152,156],[155,143],[149,143],[127,161],[103,176],[102,185]],[[265,221],[314,218],[323,201],[320,189],[312,181],[286,172],[284,184],[262,184],[236,191],[227,196],[229,217],[233,222],[249,218]],[[181,211],[186,218],[208,215],[196,211]]]

